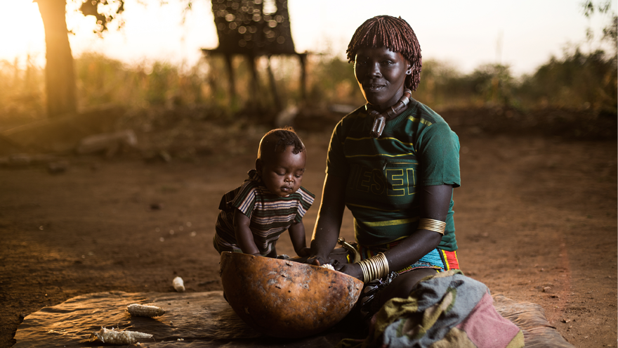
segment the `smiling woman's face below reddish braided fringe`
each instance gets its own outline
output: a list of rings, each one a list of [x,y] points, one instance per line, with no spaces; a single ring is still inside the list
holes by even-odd
[[[401,53],[386,47],[356,52],[354,74],[367,103],[380,110],[395,105],[403,95],[405,78],[412,73]]]

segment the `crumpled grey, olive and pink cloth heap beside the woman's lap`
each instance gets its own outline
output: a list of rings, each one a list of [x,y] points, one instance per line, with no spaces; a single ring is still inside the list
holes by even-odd
[[[407,298],[390,299],[369,337],[341,347],[524,347],[521,330],[502,318],[485,284],[458,269],[423,278]]]

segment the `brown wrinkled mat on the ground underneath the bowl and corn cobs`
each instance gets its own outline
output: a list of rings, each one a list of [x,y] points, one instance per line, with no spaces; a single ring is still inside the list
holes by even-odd
[[[157,318],[132,317],[128,304],[153,304],[165,309]],[[524,333],[526,347],[571,348],[547,322],[543,309],[530,302],[515,302],[494,296],[499,313],[513,321]],[[91,333],[106,328],[129,328],[150,333],[153,339],[139,347],[294,347],[331,348],[346,333],[336,328],[298,340],[264,337],[246,326],[223,299],[223,292],[98,292],[44,307],[27,316],[15,333],[20,347],[110,347],[90,342]],[[349,335],[349,334],[348,334]],[[181,339],[181,340],[179,340]]]

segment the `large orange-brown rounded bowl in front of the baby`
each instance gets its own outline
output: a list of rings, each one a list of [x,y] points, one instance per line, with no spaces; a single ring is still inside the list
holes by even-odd
[[[341,321],[363,283],[347,274],[284,259],[221,253],[221,283],[242,320],[272,337],[305,337]]]

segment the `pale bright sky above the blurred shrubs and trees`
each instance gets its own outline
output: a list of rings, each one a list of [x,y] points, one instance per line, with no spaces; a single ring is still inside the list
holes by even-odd
[[[76,0],[77,1],[77,0]],[[265,0],[270,1],[270,0]],[[612,1],[612,11],[618,0]],[[139,3],[141,2],[141,4]],[[185,16],[174,0],[126,0],[121,30],[103,39],[93,34],[92,16],[74,13],[69,2],[67,25],[73,55],[96,51],[126,63],[166,60],[194,65],[200,49],[218,45],[211,3],[194,0]],[[586,44],[586,28],[600,37],[607,16],[585,18],[583,0],[289,0],[291,32],[296,51],[330,53],[345,58],[356,28],[374,15],[397,15],[407,20],[421,44],[423,59],[447,62],[468,73],[486,63],[509,65],[514,75],[532,73],[566,46]],[[147,4],[147,5],[144,5]],[[0,60],[23,65],[27,56],[44,66],[44,28],[32,0],[0,0]],[[9,15],[6,15],[10,13]],[[11,33],[11,34],[7,34]]]

